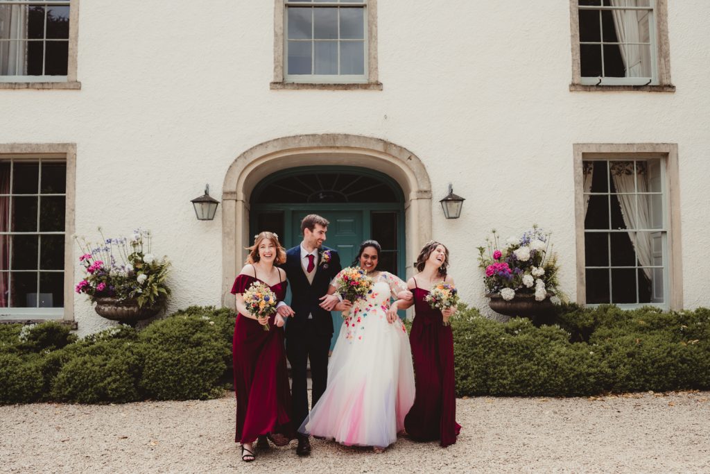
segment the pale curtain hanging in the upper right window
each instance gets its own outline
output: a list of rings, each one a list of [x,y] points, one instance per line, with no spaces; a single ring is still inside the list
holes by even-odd
[[[638,0],[611,0],[611,6],[640,6]],[[645,67],[642,45],[629,45],[623,43],[642,43],[648,41],[643,38],[639,27],[640,15],[646,15],[641,10],[613,10],[614,27],[618,38],[621,58],[623,59],[626,77],[648,77],[650,71]]]

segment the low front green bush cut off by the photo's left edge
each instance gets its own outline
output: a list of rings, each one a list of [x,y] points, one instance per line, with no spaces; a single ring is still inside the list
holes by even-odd
[[[0,404],[29,403],[42,395],[43,379],[37,355],[0,353]]]

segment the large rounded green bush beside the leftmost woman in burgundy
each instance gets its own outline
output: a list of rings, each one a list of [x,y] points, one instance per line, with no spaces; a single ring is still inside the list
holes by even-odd
[[[145,355],[140,386],[160,400],[208,399],[222,393],[219,380],[230,351],[208,317],[175,316],[138,335]]]

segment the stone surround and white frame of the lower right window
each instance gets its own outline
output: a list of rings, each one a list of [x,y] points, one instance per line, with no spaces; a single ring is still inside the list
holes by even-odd
[[[680,239],[680,208],[678,180],[677,144],[574,144],[574,213],[577,240],[577,303],[581,306],[598,306],[586,303],[586,254],[584,236],[584,161],[633,161],[660,158],[661,190],[663,192],[663,214],[665,234],[662,245],[663,256],[663,303],[617,303],[620,308],[658,306],[664,309],[680,310],[683,307],[682,252]],[[608,194],[603,193],[603,194]],[[610,230],[602,230],[610,232]],[[653,232],[658,229],[652,230]],[[627,230],[623,230],[627,232]],[[611,266],[611,259],[609,260]],[[617,267],[613,267],[617,268]],[[638,274],[638,271],[637,271]],[[637,276],[638,278],[638,276]],[[638,296],[638,294],[637,294]],[[611,298],[611,293],[610,293]],[[637,297],[638,301],[638,297]]]

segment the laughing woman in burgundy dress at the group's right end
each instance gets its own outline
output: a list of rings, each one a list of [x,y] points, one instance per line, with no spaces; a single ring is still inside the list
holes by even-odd
[[[456,422],[454,392],[454,339],[449,318],[456,308],[439,311],[425,297],[435,284],[454,284],[447,276],[449,250],[439,242],[429,242],[417,258],[417,271],[408,281],[414,293],[415,318],[410,331],[416,395],[404,420],[415,441],[440,440],[446,447],[456,443],[461,425]],[[408,305],[411,306],[411,305]]]

